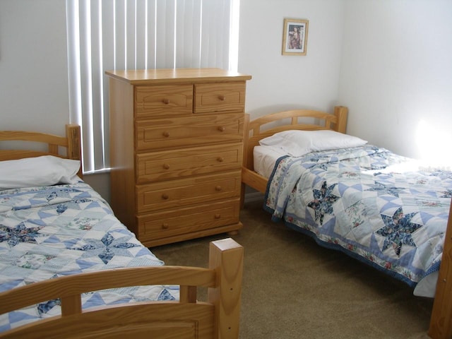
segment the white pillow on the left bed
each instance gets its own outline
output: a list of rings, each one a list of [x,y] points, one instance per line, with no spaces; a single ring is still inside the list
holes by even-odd
[[[75,184],[80,161],[52,155],[0,161],[0,189]]]

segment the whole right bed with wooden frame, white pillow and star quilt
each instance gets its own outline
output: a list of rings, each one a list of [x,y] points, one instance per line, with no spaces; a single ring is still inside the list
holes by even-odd
[[[347,136],[346,117],[346,107],[248,117],[244,184],[265,193],[273,220],[402,280],[415,295],[441,300],[446,290],[450,298],[448,279],[438,276],[441,261],[443,275],[452,269],[445,249],[452,172]],[[450,323],[450,309],[442,312],[432,328],[436,316]]]

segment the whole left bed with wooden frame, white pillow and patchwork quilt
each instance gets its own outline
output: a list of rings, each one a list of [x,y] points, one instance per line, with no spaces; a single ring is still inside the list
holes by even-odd
[[[69,158],[0,148],[0,338],[109,338],[120,326],[137,338],[237,338],[242,247],[211,243],[210,268],[164,266],[83,182],[80,130],[67,132],[45,140],[49,150],[68,148]],[[4,131],[0,141],[32,136],[44,138]],[[218,278],[225,269],[233,279]],[[209,287],[208,302],[196,300],[197,286]]]

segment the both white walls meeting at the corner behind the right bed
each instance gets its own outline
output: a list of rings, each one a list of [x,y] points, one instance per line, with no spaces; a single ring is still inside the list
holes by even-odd
[[[251,117],[339,104],[348,133],[396,153],[452,143],[452,1],[241,0],[240,14]],[[306,57],[281,55],[285,17],[309,19]]]

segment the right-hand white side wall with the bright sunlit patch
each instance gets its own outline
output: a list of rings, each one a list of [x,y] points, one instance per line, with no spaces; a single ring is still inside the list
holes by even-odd
[[[408,157],[449,149],[452,1],[347,0],[343,42],[348,133]]]

